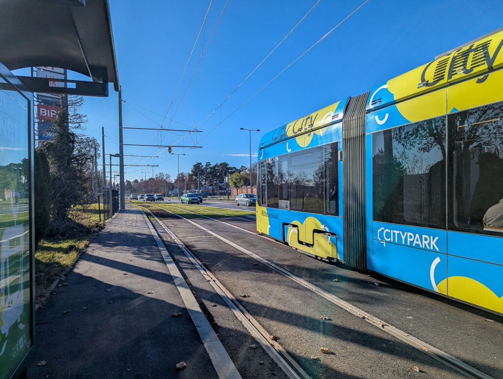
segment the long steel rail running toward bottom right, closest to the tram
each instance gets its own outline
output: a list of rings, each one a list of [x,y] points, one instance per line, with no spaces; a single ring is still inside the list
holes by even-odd
[[[327,299],[328,301],[332,302],[333,304],[341,307],[342,309],[348,311],[349,313],[352,313],[353,315],[356,315],[358,316],[359,318],[367,321],[368,323],[370,323],[371,325],[379,328],[379,329],[382,329],[384,330],[385,332],[391,334],[392,336],[398,338],[399,340],[409,344],[410,346],[413,346],[415,347],[416,349],[420,350],[420,351],[423,351],[424,353],[438,359],[439,361],[441,361],[442,363],[456,369],[457,371],[463,373],[464,375],[468,376],[468,377],[475,377],[475,378],[484,378],[484,379],[490,379],[491,376],[483,373],[482,371],[476,369],[475,367],[472,367],[472,366],[469,366],[468,364],[466,364],[465,362],[459,360],[458,358],[455,358],[453,357],[452,355],[442,351],[442,350],[439,350],[437,349],[436,347],[433,347],[429,344],[427,344],[426,342],[423,342],[421,341],[420,339],[417,339],[403,331],[401,331],[400,329],[398,328],[395,328],[394,326],[392,325],[389,325],[387,323],[385,323],[384,321],[378,319],[377,317],[375,316],[372,316],[371,314],[365,312],[365,311],[362,311],[361,309],[357,308],[356,306],[350,304],[349,302],[341,299],[340,297],[337,297],[336,295],[333,295],[327,291],[325,291],[324,289],[321,289],[320,287],[314,285],[314,284],[311,284],[307,281],[305,281],[304,279],[302,278],[299,278],[298,276],[292,274],[290,271],[288,270],[285,270],[284,268],[280,267],[280,266],[277,266],[276,264],[268,261],[267,259],[265,258],[262,258],[260,255],[257,255],[235,243],[233,243],[232,241],[230,240],[227,240],[226,238],[222,237],[222,236],[219,236],[218,234],[204,228],[204,226],[201,226],[199,224],[197,224],[196,222],[192,221],[192,220],[189,220],[175,212],[172,212],[170,210],[167,210],[167,209],[164,209],[164,208],[161,208],[161,207],[157,207],[157,206],[154,206],[155,208],[159,208],[159,209],[162,209],[162,210],[165,210],[167,212],[170,212],[170,213],[173,213],[173,214],[176,214],[177,216],[179,216],[180,218],[183,218],[184,220],[186,220],[187,222],[197,226],[197,228],[205,231],[206,233],[209,233],[211,234],[212,236],[218,238],[219,240],[225,242],[226,244],[236,248],[237,250],[243,252],[244,254],[247,254],[249,255],[250,257],[253,257],[255,258],[256,260],[258,260],[259,262],[262,262],[264,263],[266,266],[269,266],[271,267],[273,270],[279,272],[280,274],[283,274],[285,275],[286,277],[292,279],[293,281],[299,283],[300,285],[310,289],[311,291],[313,291],[314,293],[317,293],[318,295],[324,297],[325,299]],[[180,208],[177,208],[177,209],[180,209]],[[191,212],[191,213],[195,213],[195,212]],[[197,214],[197,213],[196,213]],[[220,221],[220,220],[217,220],[217,219],[214,219],[214,218],[211,218],[211,217],[208,217],[208,216],[205,216],[204,214],[200,214],[200,216],[203,216],[203,217],[206,217],[206,218],[210,218],[214,221],[218,221],[218,222],[222,222],[224,224],[227,224],[229,226],[232,226],[233,228],[236,228],[236,229],[240,229],[240,230],[243,230],[242,228],[239,228],[239,226],[234,226],[234,225],[231,225],[231,224],[228,224],[224,221]],[[249,231],[246,231],[248,233],[251,233]]]

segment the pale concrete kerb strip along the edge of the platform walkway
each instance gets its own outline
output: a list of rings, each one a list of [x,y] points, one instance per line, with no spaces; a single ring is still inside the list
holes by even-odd
[[[180,292],[180,296],[182,296],[182,300],[184,301],[185,307],[189,312],[189,315],[196,327],[197,332],[199,333],[199,337],[203,341],[204,348],[208,352],[210,356],[211,362],[213,363],[213,367],[215,367],[215,371],[219,378],[240,378],[241,375],[237,371],[236,366],[232,362],[227,354],[227,351],[223,347],[222,343],[218,339],[215,331],[211,327],[210,323],[204,316],[204,313],[199,308],[197,304],[197,300],[192,294],[192,291],[189,289],[189,286],[185,282],[180,270],[176,266],[175,262],[171,258],[171,255],[167,252],[164,244],[162,243],[159,235],[155,231],[152,223],[148,219],[145,212],[141,211],[143,217],[145,217],[145,221],[147,222],[148,229],[152,234],[155,243],[159,248],[159,252],[164,259],[164,263],[167,266],[167,269],[170,271],[171,276],[177,286],[178,291]]]

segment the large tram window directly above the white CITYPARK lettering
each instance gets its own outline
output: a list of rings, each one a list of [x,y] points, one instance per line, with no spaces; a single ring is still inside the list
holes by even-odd
[[[445,116],[372,136],[375,221],[445,228]]]

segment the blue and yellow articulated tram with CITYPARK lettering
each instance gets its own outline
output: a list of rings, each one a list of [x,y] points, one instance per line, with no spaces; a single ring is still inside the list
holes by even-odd
[[[265,134],[257,230],[503,314],[503,31]]]

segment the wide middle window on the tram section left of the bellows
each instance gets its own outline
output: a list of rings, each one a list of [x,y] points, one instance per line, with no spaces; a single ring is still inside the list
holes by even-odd
[[[290,209],[323,214],[323,146],[290,155]]]

